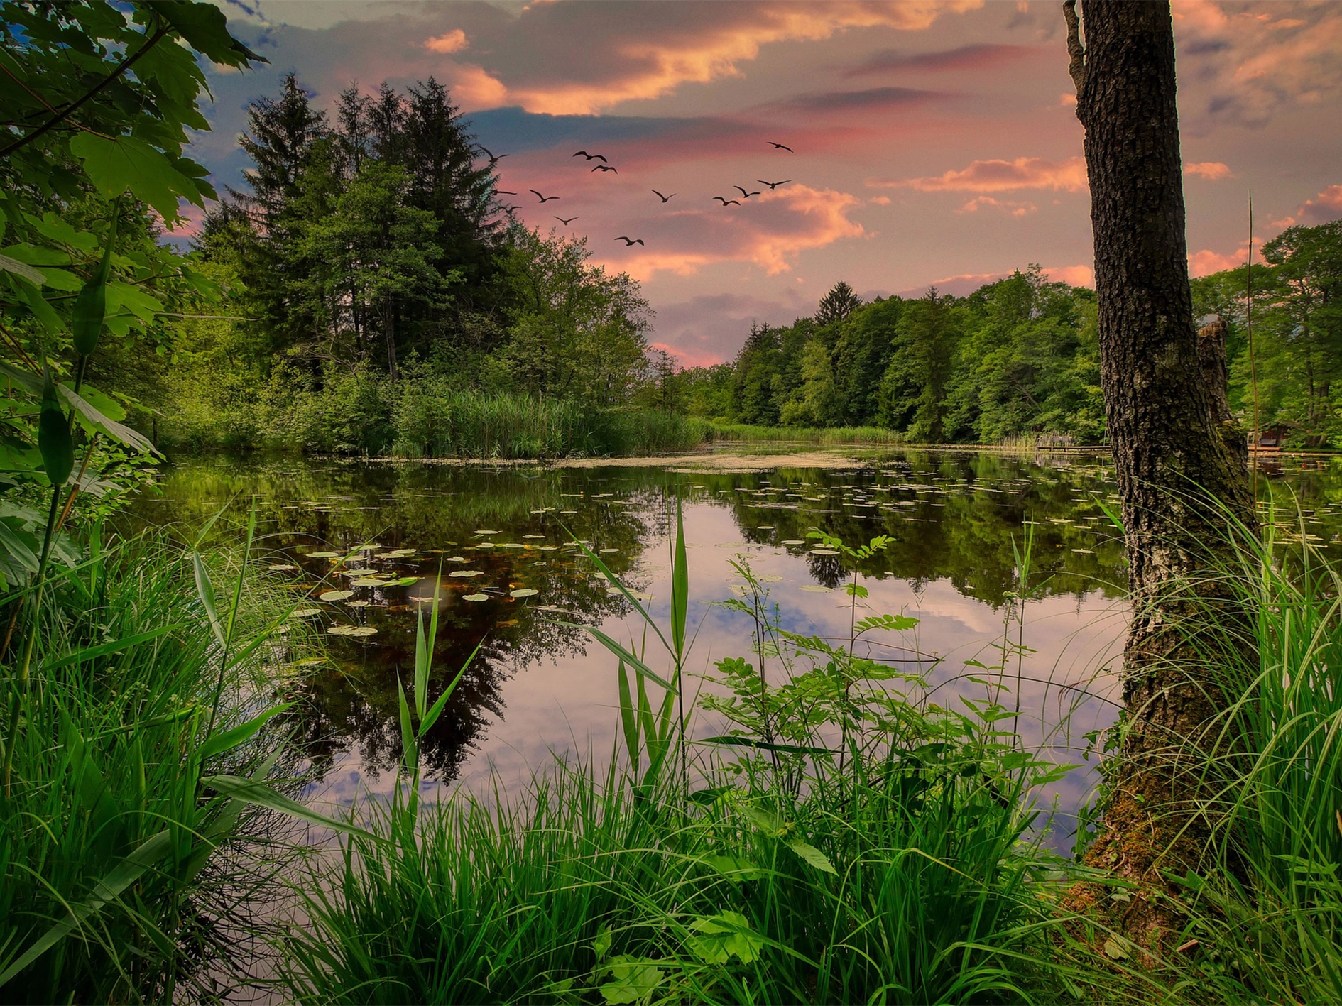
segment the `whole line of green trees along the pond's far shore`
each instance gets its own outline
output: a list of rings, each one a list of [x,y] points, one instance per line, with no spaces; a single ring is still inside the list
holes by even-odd
[[[352,86],[325,114],[290,76],[251,105],[240,142],[250,188],[224,194],[193,255],[240,321],[184,321],[174,366],[122,376],[169,441],[440,453],[462,449],[467,406],[586,424],[537,433],[545,451],[609,449],[593,417],[628,432],[652,413],[918,443],[1104,440],[1095,294],[1037,266],[966,296],[863,303],[840,282],[811,317],[753,325],[733,361],[678,369],[650,349],[636,280],[593,266],[582,239],[515,221],[435,80]],[[1288,443],[1342,447],[1342,224],[1291,227],[1260,255],[1252,354],[1245,268],[1193,282],[1196,321],[1228,325],[1245,427],[1256,401]]]

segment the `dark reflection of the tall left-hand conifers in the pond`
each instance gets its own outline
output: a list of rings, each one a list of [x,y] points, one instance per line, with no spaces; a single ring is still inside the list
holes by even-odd
[[[664,478],[666,473],[662,473]],[[636,492],[635,492],[636,490]],[[585,492],[581,499],[562,494]],[[639,506],[619,506],[592,499],[609,492],[615,499],[636,499]],[[659,498],[662,494],[656,494]],[[313,588],[329,574],[325,559],[307,559],[306,551],[345,551],[376,541],[385,549],[413,547],[416,555],[393,562],[399,575],[419,575],[417,586],[400,589],[361,588],[358,609],[331,608],[333,617],[357,620],[376,628],[366,641],[331,637],[329,652],[336,667],[319,665],[297,688],[299,702],[289,712],[289,727],[303,746],[318,777],[346,751],[357,750],[368,771],[392,770],[401,757],[400,700],[397,680],[413,681],[415,618],[419,605],[411,594],[427,597],[437,578],[440,555],[460,554],[475,579],[443,577],[439,637],[429,697],[442,693],[471,660],[421,747],[427,773],[447,781],[482,738],[491,716],[506,715],[501,687],[518,667],[545,655],[582,652],[586,636],[557,622],[599,622],[625,605],[605,590],[590,562],[568,546],[566,527],[597,547],[616,549],[603,555],[617,575],[627,575],[650,535],[640,514],[650,502],[647,479],[621,472],[611,478],[596,471],[541,471],[515,468],[488,471],[427,465],[380,465],[337,463],[231,464],[217,459],[170,468],[162,499],[146,500],[140,519],[162,523],[170,514],[180,534],[195,534],[219,510],[215,539],[232,537],[258,500],[259,542],[267,561],[294,562],[303,570],[299,582]],[[533,511],[553,511],[537,514]],[[560,515],[558,510],[573,514]],[[562,522],[562,527],[561,523]],[[476,530],[501,534],[482,538]],[[544,534],[526,549],[476,549],[483,541],[517,542],[523,534]],[[561,546],[542,551],[539,545]],[[365,565],[354,562],[353,565]],[[448,566],[448,570],[459,563]],[[513,586],[539,590],[533,598],[509,597]],[[484,602],[462,596],[483,590]],[[537,604],[565,614],[541,612]],[[325,608],[325,605],[323,605]],[[427,612],[427,608],[425,608]]]

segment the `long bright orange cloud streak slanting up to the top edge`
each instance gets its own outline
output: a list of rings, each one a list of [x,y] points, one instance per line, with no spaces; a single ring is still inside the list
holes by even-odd
[[[788,3],[741,4],[743,19],[733,23],[733,5],[715,9],[719,24],[656,39],[627,39],[615,47],[625,62],[623,74],[603,80],[550,80],[518,86],[514,99],[527,111],[552,115],[592,115],[621,102],[670,94],[683,83],[707,83],[739,76],[739,63],[756,59],[764,46],[778,42],[820,42],[848,28],[927,28],[942,13],[982,7],[982,0],[906,0],[899,4]]]

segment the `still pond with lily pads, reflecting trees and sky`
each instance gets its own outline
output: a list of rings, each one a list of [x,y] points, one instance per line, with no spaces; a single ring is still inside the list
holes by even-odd
[[[1299,495],[1303,534],[1327,542],[1342,530],[1333,468],[1295,464],[1271,484]],[[722,606],[743,590],[741,563],[785,628],[847,640],[843,583],[854,570],[808,538],[816,528],[852,546],[890,537],[856,563],[870,590],[859,604],[918,618],[867,651],[923,673],[917,697],[956,706],[994,695],[1000,672],[984,667],[1002,663],[1009,632],[1024,649],[1008,661],[1002,703],[1019,708],[1024,743],[1080,766],[1041,794],[1056,799],[1067,845],[1067,822],[1094,782],[1086,747],[1114,722],[1119,697],[1127,609],[1123,545],[1106,514],[1117,510],[1107,456],[887,449],[570,467],[178,459],[136,514],[183,537],[221,514],[213,533],[236,542],[256,508],[258,574],[293,593],[295,632],[323,633],[327,648],[291,668],[298,702],[287,726],[311,762],[310,798],[348,805],[391,789],[397,680],[412,677],[417,613],[435,588],[431,696],[479,649],[421,752],[429,790],[507,789],[552,752],[608,759],[616,663],[582,626],[635,645],[646,632],[574,541],[664,626],[678,506],[698,673],[723,657],[754,660],[753,622]],[[1013,608],[1027,533],[1029,596]],[[713,731],[701,718],[691,732]]]

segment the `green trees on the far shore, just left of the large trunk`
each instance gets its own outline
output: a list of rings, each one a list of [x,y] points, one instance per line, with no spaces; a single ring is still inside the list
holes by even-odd
[[[678,380],[682,408],[719,424],[880,427],[915,443],[1104,436],[1094,292],[1037,266],[966,298],[863,304],[839,284],[815,319],[753,326],[735,361]]]

